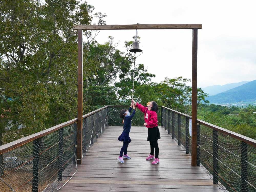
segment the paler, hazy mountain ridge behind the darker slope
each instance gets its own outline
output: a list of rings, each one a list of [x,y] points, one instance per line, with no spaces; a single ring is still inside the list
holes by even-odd
[[[213,85],[213,86],[208,86],[208,87],[205,87],[205,88],[202,88],[204,90],[205,93],[208,93],[209,96],[211,95],[216,95],[218,93],[221,93],[223,91],[227,91],[229,89],[233,89],[235,87],[238,87],[238,86],[241,86],[245,83],[248,83],[250,81],[241,81],[241,82],[238,82],[238,83],[228,83],[228,84],[225,84],[225,85]]]

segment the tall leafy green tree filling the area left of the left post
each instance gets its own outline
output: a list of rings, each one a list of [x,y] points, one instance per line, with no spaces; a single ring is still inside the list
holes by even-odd
[[[77,31],[72,28],[91,24],[93,17],[104,24],[105,15],[93,15],[94,7],[78,0],[1,0],[0,10],[0,109],[3,127],[6,119],[13,120],[4,135],[9,142],[76,116]],[[90,70],[87,64],[84,71]],[[20,124],[24,128],[18,130]]]

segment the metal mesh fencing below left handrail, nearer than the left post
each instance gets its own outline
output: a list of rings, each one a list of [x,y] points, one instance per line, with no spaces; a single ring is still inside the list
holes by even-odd
[[[63,185],[76,167],[76,124],[28,142],[1,155],[0,191],[42,191]],[[46,191],[53,191],[49,187]]]

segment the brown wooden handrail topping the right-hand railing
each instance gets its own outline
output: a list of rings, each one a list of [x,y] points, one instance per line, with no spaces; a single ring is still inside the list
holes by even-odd
[[[162,107],[165,108],[165,109],[168,109],[168,110],[170,110],[170,111],[173,111],[173,112],[175,112],[175,113],[177,113],[177,114],[180,114],[180,115],[182,115],[182,116],[185,116],[185,117],[188,117],[188,118],[191,119],[191,116],[190,116],[190,115],[187,115],[187,114],[184,114],[184,113],[180,113],[180,112],[178,112],[178,111],[175,111],[175,110],[173,110],[173,109],[167,108],[167,107],[165,107],[165,106],[162,106]],[[247,136],[241,135],[241,134],[239,134],[239,133],[236,133],[236,132],[233,132],[233,131],[224,129],[224,128],[222,128],[222,127],[219,127],[219,126],[217,126],[217,125],[208,123],[208,122],[206,122],[206,121],[202,121],[202,120],[200,120],[200,119],[197,119],[197,122],[200,123],[200,124],[203,124],[203,125],[205,125],[205,126],[207,126],[207,127],[209,127],[209,128],[211,128],[211,129],[214,129],[214,130],[216,130],[216,131],[222,132],[222,133],[224,133],[224,134],[226,134],[226,135],[229,135],[229,136],[231,136],[231,137],[233,137],[233,138],[236,138],[236,139],[238,139],[238,140],[240,140],[240,141],[243,141],[243,142],[245,142],[245,143],[248,143],[248,144],[250,144],[250,145],[256,147],[256,140],[254,140],[254,139],[252,139],[252,138],[250,138],[250,137],[247,137]]]

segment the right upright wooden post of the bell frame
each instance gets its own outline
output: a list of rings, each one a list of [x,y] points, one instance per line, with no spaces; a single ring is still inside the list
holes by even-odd
[[[192,157],[191,165],[196,166],[196,123],[197,123],[197,29],[193,29],[192,41]]]

